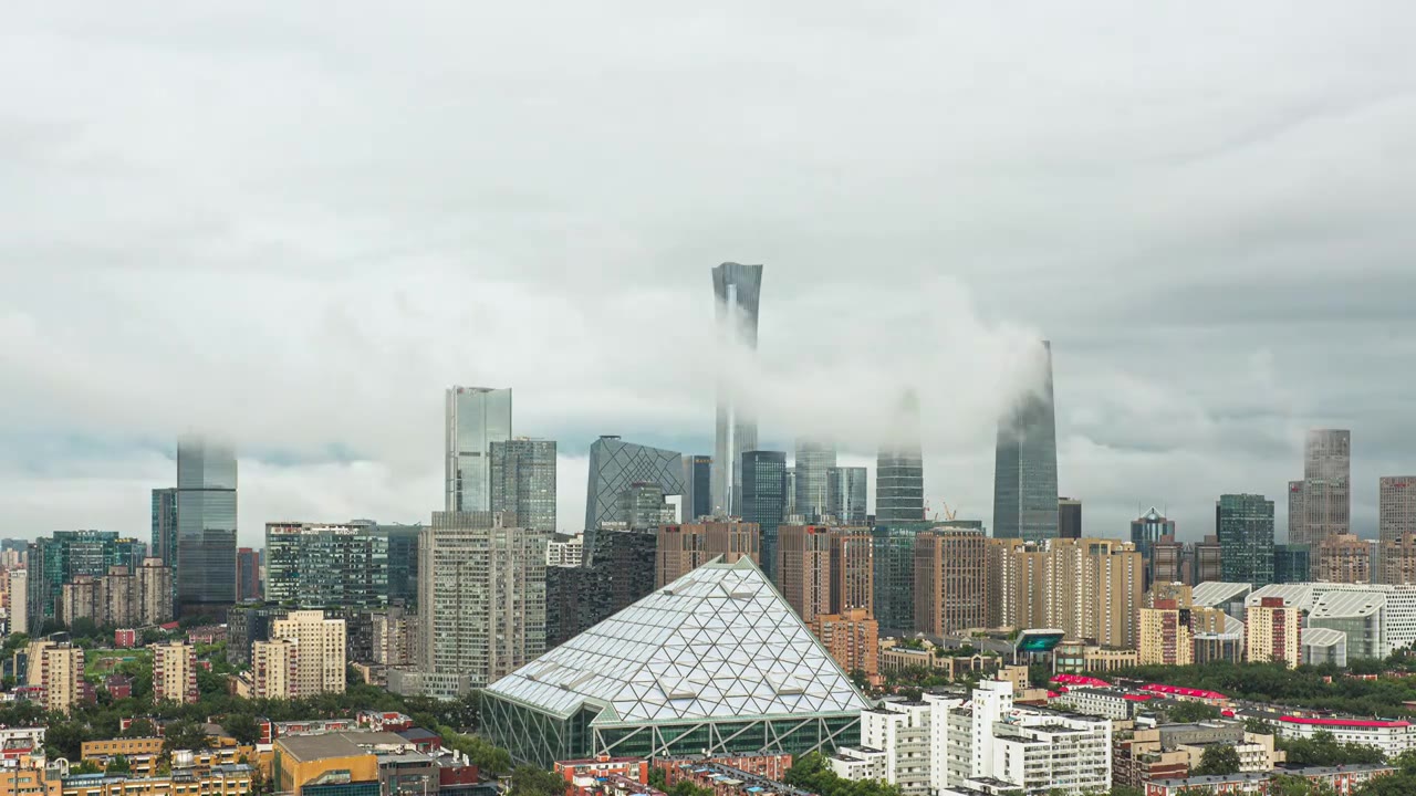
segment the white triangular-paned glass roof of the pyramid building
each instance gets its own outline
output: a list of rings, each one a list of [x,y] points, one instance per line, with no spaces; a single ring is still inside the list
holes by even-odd
[[[865,700],[750,559],[712,561],[493,683],[595,721],[858,712]]]

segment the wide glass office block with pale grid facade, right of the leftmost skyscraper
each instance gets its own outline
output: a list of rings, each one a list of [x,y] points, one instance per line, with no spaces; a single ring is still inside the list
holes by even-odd
[[[265,599],[299,608],[388,605],[388,537],[368,524],[266,523]]]

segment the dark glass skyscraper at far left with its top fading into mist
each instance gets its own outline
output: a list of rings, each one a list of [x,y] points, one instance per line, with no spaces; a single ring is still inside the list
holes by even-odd
[[[236,602],[236,452],[195,435],[177,440],[177,581],[180,613]]]

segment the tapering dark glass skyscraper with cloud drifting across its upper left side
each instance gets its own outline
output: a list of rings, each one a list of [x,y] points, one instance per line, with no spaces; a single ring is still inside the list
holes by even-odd
[[[1052,344],[1042,341],[1044,382],[998,422],[993,479],[993,534],[1044,540],[1058,535],[1058,443],[1052,402]]]

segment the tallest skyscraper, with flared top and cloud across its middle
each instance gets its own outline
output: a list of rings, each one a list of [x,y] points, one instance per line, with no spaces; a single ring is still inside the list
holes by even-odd
[[[758,421],[743,401],[736,358],[758,350],[762,266],[725,262],[712,269],[718,324],[718,418],[712,456],[712,513],[739,514],[742,453],[758,449]]]

